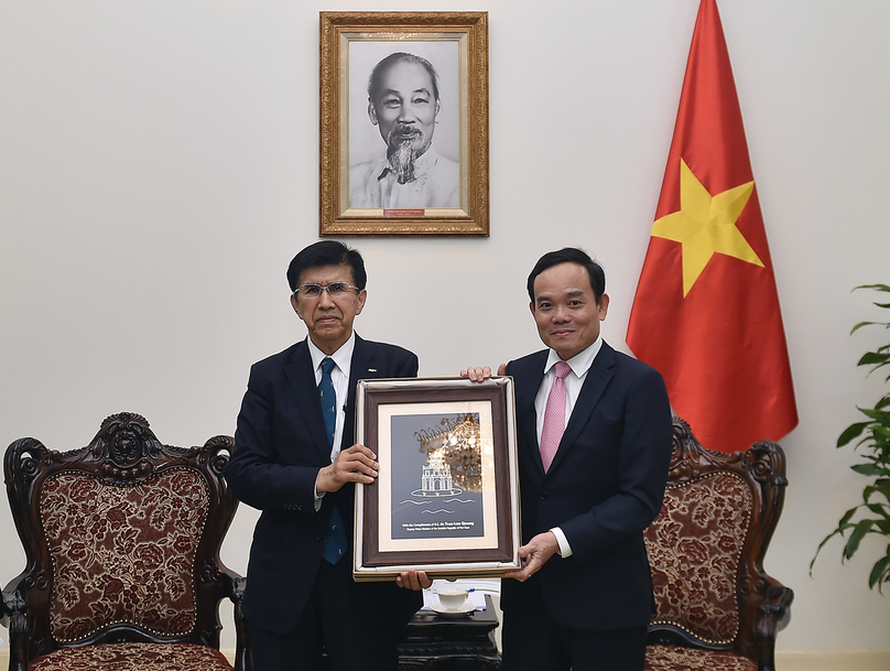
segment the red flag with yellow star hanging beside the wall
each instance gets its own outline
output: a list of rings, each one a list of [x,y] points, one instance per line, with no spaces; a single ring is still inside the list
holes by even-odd
[[[627,343],[706,447],[797,424],[791,367],[732,68],[702,0]]]

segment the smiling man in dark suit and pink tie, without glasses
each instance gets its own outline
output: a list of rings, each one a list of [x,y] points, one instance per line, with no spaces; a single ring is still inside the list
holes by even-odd
[[[603,342],[605,284],[579,249],[544,255],[528,289],[547,349],[498,370],[515,383],[523,541],[501,584],[506,671],[643,669],[643,530],[664,496],[671,410],[661,376]]]

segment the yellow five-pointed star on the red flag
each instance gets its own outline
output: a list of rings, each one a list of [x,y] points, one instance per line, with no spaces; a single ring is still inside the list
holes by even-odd
[[[736,226],[753,188],[755,183],[748,182],[712,196],[686,162],[680,160],[680,212],[658,219],[652,225],[652,235],[683,246],[683,297],[715,253],[763,268]]]

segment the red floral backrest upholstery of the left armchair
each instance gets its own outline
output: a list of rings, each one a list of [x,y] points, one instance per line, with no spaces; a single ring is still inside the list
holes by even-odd
[[[74,642],[121,621],[189,634],[207,506],[204,480],[185,468],[129,486],[69,472],[47,478],[40,510],[53,561],[53,638]]]

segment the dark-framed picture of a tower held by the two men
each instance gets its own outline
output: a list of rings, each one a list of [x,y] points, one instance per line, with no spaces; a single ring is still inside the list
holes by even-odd
[[[521,567],[512,378],[361,380],[356,440],[380,464],[356,485],[356,581]]]

